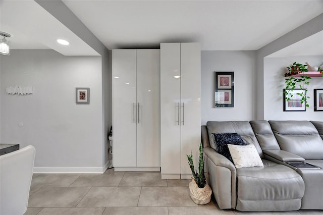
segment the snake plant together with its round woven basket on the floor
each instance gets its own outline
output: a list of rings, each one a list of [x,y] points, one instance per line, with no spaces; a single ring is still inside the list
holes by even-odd
[[[189,183],[190,196],[196,204],[207,204],[211,200],[212,190],[208,186],[204,175],[203,146],[199,145],[198,172],[194,169],[193,154],[186,155],[193,177]]]

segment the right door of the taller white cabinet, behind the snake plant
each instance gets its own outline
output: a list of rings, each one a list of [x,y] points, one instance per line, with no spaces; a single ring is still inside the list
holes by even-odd
[[[198,164],[201,142],[201,56],[199,43],[181,43],[181,174],[191,174],[186,154]]]

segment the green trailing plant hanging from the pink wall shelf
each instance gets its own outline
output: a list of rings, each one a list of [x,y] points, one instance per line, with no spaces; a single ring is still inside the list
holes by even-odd
[[[310,98],[309,96],[306,96],[307,89],[305,88],[306,86],[309,85],[309,80],[311,77],[308,77],[305,75],[307,72],[307,65],[299,64],[294,62],[293,64],[289,65],[287,67],[288,73],[285,73],[285,76],[290,76],[290,75],[296,75],[299,74],[299,72],[303,72],[304,74],[301,75],[300,77],[288,77],[285,79],[286,83],[286,90],[284,93],[286,94],[285,99],[286,101],[289,101],[293,97],[293,90],[295,88],[303,89],[302,93],[297,93],[297,95],[301,96],[300,102],[303,104],[305,103],[305,106],[308,108],[309,104],[307,103],[307,99]]]

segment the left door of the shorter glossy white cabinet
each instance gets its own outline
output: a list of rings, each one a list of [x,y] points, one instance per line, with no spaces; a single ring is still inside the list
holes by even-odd
[[[113,164],[136,167],[136,50],[115,49],[113,64]]]

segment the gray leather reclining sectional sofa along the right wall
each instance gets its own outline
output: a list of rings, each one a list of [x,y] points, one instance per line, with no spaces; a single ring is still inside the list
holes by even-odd
[[[216,151],[213,133],[238,133],[255,146],[263,167],[236,168]],[[221,209],[323,209],[323,122],[209,121],[201,135],[205,171]],[[295,168],[289,162],[316,167]]]

